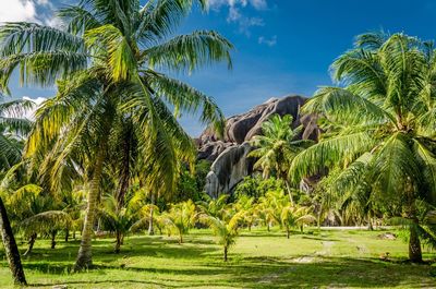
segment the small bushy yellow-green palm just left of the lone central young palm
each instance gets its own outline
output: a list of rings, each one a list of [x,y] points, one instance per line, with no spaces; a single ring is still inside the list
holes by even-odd
[[[183,243],[183,236],[194,227],[196,218],[195,204],[189,200],[171,206],[168,214],[166,214],[166,224],[170,230],[177,232],[181,244]]]

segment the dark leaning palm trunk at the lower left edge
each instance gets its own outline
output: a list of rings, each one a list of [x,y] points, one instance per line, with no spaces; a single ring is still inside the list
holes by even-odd
[[[0,197],[0,229],[1,229],[1,239],[3,240],[3,246],[9,263],[9,268],[12,272],[14,284],[25,286],[27,285],[27,282],[26,282],[26,277],[24,275],[23,266],[21,264],[19,248],[16,246],[11,224],[9,222],[8,213],[1,197]]]

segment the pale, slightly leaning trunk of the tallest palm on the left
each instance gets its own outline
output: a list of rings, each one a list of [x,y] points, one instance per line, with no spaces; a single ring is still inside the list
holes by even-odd
[[[81,248],[78,249],[77,258],[74,264],[73,268],[74,272],[93,266],[93,256],[92,256],[93,226],[95,220],[94,218],[95,212],[97,208],[97,197],[100,189],[100,178],[102,172],[104,158],[105,158],[104,152],[102,149],[100,149],[97,153],[96,165],[94,168],[94,176],[89,184],[88,202],[82,231]]]

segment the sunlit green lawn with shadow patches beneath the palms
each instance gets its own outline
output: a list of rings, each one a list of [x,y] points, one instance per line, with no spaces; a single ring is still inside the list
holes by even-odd
[[[278,231],[244,231],[227,264],[208,230],[194,230],[181,245],[175,238],[130,237],[120,254],[112,253],[112,239],[97,239],[96,268],[81,274],[69,273],[78,241],[59,240],[50,250],[37,240],[24,267],[35,288],[436,288],[436,267],[408,264],[407,243],[380,240],[380,233],[329,230],[287,240]],[[424,251],[425,258],[435,257]],[[379,260],[385,252],[390,262]],[[12,287],[0,254],[0,287]]]

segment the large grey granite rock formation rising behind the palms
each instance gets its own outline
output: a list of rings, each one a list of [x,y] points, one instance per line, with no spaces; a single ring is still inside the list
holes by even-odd
[[[205,130],[197,139],[198,159],[214,161],[207,174],[206,192],[214,197],[220,193],[231,193],[244,177],[253,172],[253,159],[246,157],[252,150],[249,142],[262,133],[262,123],[274,113],[291,115],[293,128],[304,127],[302,139],[317,140],[319,132],[315,117],[300,113],[305,101],[306,98],[301,96],[271,98],[249,112],[230,117],[223,140]]]

